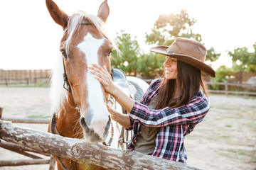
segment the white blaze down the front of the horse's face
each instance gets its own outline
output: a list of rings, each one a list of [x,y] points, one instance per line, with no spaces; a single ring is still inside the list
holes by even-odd
[[[104,42],[104,38],[96,39],[93,38],[90,33],[87,33],[87,35],[84,37],[84,41],[78,44],[80,51],[85,53],[85,60],[87,61],[88,65],[92,65],[92,63],[99,64],[98,50],[104,44]],[[97,135],[99,135],[99,137],[103,140],[105,138],[105,127],[109,120],[110,113],[108,113],[104,103],[104,93],[102,91],[100,82],[95,79],[93,74],[90,73],[89,69],[87,69],[86,72],[87,79],[85,84],[87,84],[88,108],[86,111],[81,112],[81,116],[85,118],[88,128],[96,132]],[[90,142],[93,142],[92,140],[93,139],[91,139]]]

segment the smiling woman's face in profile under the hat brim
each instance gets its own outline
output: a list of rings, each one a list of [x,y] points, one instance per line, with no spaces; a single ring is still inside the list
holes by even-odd
[[[166,79],[177,79],[177,60],[175,58],[166,56],[164,69]]]

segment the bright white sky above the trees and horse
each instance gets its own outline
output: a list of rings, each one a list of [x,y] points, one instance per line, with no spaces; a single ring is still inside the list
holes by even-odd
[[[85,11],[97,15],[103,0],[55,0],[68,15]],[[108,0],[110,16],[106,30],[112,37],[120,30],[138,40],[145,53],[152,47],[145,43],[154,22],[164,13],[186,10],[195,18],[194,33],[202,36],[207,49],[221,53],[213,69],[232,62],[227,51],[247,47],[252,52],[256,42],[255,0]],[[0,69],[52,69],[59,57],[63,30],[50,17],[44,0],[9,0],[0,2]],[[167,45],[169,46],[169,45]]]

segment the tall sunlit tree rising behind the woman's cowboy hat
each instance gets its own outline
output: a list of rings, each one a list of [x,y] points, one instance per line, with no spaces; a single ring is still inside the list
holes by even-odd
[[[171,45],[175,38],[193,38],[201,42],[201,35],[193,33],[191,26],[196,23],[194,18],[188,18],[188,13],[185,10],[181,10],[181,13],[174,15],[173,13],[160,15],[154,23],[154,28],[151,29],[151,33],[146,33],[146,43],[149,45]],[[213,47],[207,51],[206,60],[211,62],[218,60],[220,56],[216,53]]]

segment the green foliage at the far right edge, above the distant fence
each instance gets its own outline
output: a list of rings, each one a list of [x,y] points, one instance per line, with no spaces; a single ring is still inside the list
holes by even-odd
[[[247,47],[238,47],[228,52],[228,55],[232,57],[232,61],[235,63],[233,66],[235,69],[239,71],[256,72],[256,42],[253,47],[255,52],[248,52]]]

